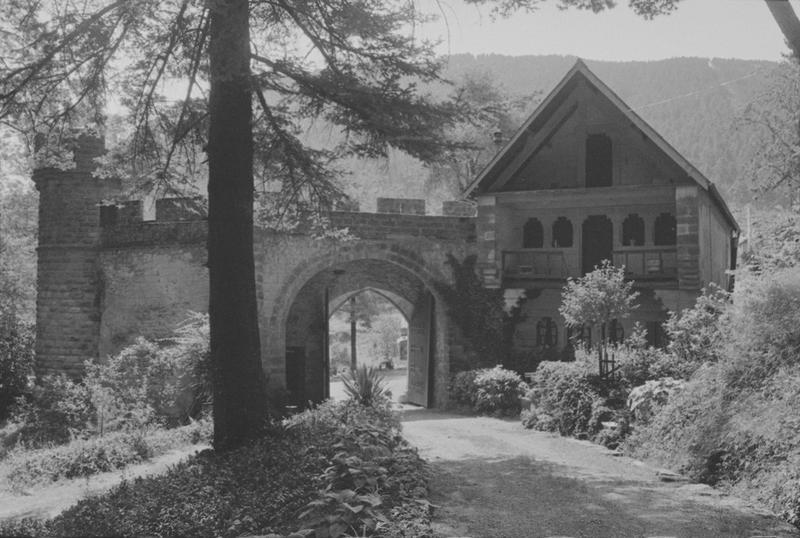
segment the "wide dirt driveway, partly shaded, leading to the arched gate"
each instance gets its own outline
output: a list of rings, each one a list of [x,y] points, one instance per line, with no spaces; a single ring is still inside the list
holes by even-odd
[[[585,441],[519,421],[407,410],[405,437],[431,462],[440,536],[797,537],[769,512]]]

